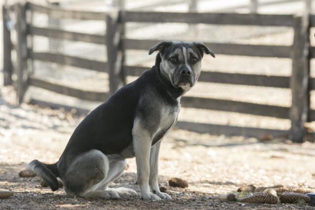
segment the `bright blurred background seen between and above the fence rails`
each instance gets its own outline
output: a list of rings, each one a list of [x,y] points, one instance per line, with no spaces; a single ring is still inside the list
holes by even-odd
[[[15,0],[3,3],[14,4]],[[312,11],[312,1],[308,0],[62,0],[47,1],[34,0],[37,4],[54,4],[62,8],[84,11],[109,11],[118,7],[136,11],[162,12],[220,12],[220,13],[259,13],[259,14],[303,14]],[[49,27],[74,32],[104,35],[106,25],[104,21],[74,20],[50,18],[46,14],[34,12],[32,25],[35,27]],[[126,23],[126,38],[128,39],[173,39],[173,40],[201,40],[209,43],[236,43],[256,45],[290,46],[293,43],[293,29],[291,27],[261,27],[213,24],[185,24],[185,23]],[[311,32],[312,33],[312,32]],[[313,39],[311,39],[312,41]],[[209,46],[212,48],[212,46]],[[62,53],[80,58],[107,61],[105,45],[32,36],[32,50],[36,52]],[[215,49],[213,49],[215,51]],[[155,56],[149,56],[148,50],[126,51],[126,65],[151,67]],[[89,69],[60,65],[51,62],[34,60],[33,74],[38,78],[49,79],[61,85],[72,88],[84,87],[84,90],[109,91],[108,74]],[[203,71],[245,73],[267,76],[289,76],[291,73],[291,59],[265,58],[234,55],[219,55],[215,60],[205,57]],[[314,75],[311,68],[311,75]],[[127,76],[127,83],[136,77]],[[242,102],[277,105],[290,107],[290,90],[282,88],[265,88],[257,86],[229,85],[221,83],[199,82],[188,93],[189,96],[227,99]],[[100,101],[85,101],[53,93],[35,87],[29,87],[26,100],[46,101],[59,105],[91,110]],[[312,97],[313,99],[313,97]],[[314,108],[314,100],[311,108]],[[211,118],[207,116],[213,116]],[[220,117],[219,117],[220,116]],[[290,128],[289,120],[237,114],[211,110],[196,110],[183,108],[180,120],[203,123],[219,123],[240,126],[254,126],[286,130]]]

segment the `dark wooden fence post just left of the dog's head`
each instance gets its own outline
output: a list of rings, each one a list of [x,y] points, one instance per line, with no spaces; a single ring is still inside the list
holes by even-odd
[[[106,16],[107,67],[110,95],[125,84],[122,75],[123,53],[119,48],[121,37],[118,18],[119,10],[114,10],[114,12],[108,13]]]

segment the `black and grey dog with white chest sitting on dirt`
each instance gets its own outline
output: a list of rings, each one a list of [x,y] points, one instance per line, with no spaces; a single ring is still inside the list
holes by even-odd
[[[70,196],[118,199],[136,196],[124,187],[109,188],[135,157],[142,200],[171,199],[158,187],[158,153],[164,135],[177,121],[181,97],[197,82],[204,54],[215,54],[202,42],[162,40],[155,65],[116,91],[76,127],[59,161],[33,160],[26,167],[53,191],[63,181]],[[151,190],[150,190],[151,189]]]

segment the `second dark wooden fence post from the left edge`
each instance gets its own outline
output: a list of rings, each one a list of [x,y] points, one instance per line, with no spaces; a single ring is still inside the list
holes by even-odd
[[[23,102],[26,92],[27,82],[27,23],[26,23],[26,4],[17,3],[14,5],[14,10],[17,15],[16,22],[16,92],[17,102]]]

